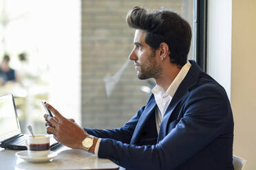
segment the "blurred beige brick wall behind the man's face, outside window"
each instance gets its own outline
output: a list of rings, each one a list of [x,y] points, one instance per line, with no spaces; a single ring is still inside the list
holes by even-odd
[[[125,21],[127,12],[134,5],[150,10],[164,6],[192,21],[193,13],[184,12],[182,6],[189,1],[82,0],[82,125],[119,127],[147,102],[148,94],[140,87],[149,84],[138,80],[133,62],[129,62],[111,95],[105,93],[105,75],[114,75],[134,46],[134,29]]]

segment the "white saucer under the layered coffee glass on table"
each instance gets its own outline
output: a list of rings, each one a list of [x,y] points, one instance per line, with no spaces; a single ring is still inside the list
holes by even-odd
[[[50,151],[50,154],[44,157],[30,157],[28,156],[28,151],[19,151],[16,153],[18,158],[21,158],[27,162],[47,162],[58,155],[55,151]]]

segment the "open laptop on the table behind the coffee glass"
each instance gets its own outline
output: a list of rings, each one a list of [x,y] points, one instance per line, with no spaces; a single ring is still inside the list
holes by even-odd
[[[0,96],[0,147],[14,150],[26,150],[28,134],[21,133],[17,110],[12,94]],[[50,137],[50,149],[58,143]]]

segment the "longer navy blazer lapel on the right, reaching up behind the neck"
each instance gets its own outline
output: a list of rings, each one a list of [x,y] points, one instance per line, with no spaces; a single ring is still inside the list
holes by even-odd
[[[198,82],[200,68],[195,63],[195,61],[189,60],[189,62],[191,62],[191,68],[189,69],[186,77],[184,77],[184,80],[176,90],[173,99],[171,99],[171,103],[169,104],[169,107],[167,108],[167,111],[164,113],[164,117],[162,118],[158,134],[158,142],[167,135],[167,124],[175,107],[179,104],[179,102],[186,95],[186,93],[189,93],[189,89],[195,86],[195,84]]]

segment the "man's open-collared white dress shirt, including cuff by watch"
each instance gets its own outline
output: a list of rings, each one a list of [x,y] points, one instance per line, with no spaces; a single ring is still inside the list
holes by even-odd
[[[158,85],[156,85],[151,91],[155,97],[156,105],[158,106],[155,110],[156,114],[156,129],[159,133],[162,117],[164,116],[164,113],[166,112],[169,104],[171,103],[171,99],[173,98],[173,95],[175,94],[176,90],[180,86],[180,83],[182,80],[184,80],[184,77],[186,77],[186,73],[188,73],[189,69],[191,67],[190,62],[186,62],[184,66],[182,66],[182,69],[180,69],[180,72],[175,77],[169,88],[166,92],[164,92],[164,89]],[[98,141],[96,143],[94,153],[96,156],[98,156],[98,148],[100,147],[100,138],[98,138]]]

